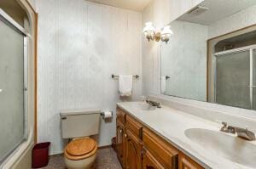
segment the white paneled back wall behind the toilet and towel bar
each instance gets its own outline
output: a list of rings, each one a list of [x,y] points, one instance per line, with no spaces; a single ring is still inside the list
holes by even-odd
[[[60,110],[115,110],[118,82],[111,74],[141,75],[140,13],[84,0],[37,0],[38,141],[62,152]],[[134,82],[132,99],[141,95]],[[115,115],[115,113],[114,113]],[[101,121],[99,145],[111,144],[113,121]]]

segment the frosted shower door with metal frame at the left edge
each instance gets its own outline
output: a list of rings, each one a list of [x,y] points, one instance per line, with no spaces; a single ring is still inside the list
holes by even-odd
[[[26,33],[0,8],[0,168],[26,140]]]

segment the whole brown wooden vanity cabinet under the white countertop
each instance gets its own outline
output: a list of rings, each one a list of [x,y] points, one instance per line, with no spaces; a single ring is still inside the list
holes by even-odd
[[[124,169],[202,169],[129,113],[117,108],[117,155]]]

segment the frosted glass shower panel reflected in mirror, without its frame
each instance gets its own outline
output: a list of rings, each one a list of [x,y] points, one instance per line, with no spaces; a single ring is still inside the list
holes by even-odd
[[[215,101],[251,109],[250,50],[216,56]]]

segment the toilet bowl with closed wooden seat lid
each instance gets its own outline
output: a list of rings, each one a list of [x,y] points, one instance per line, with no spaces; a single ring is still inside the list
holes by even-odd
[[[73,138],[64,150],[68,169],[90,169],[96,160],[97,144],[92,138]]]

